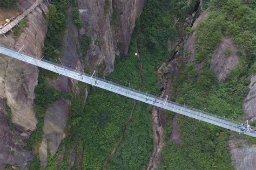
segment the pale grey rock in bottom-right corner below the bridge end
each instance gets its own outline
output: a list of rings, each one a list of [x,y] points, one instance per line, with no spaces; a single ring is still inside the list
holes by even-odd
[[[246,140],[230,140],[228,145],[231,152],[231,160],[235,169],[253,170],[256,167],[256,145],[248,145]]]

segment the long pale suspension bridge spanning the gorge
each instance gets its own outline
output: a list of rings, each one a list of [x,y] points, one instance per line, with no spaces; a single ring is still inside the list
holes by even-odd
[[[130,87],[121,86],[117,83],[113,83],[111,81],[107,81],[104,79],[100,79],[96,77],[94,74],[80,74],[77,73],[76,70],[73,70],[68,67],[64,67],[62,65],[58,65],[57,63],[52,63],[47,60],[39,60],[34,56],[29,54],[21,53],[16,51],[15,49],[11,49],[8,47],[0,46],[0,53],[10,56],[11,58],[18,59],[24,61],[26,63],[30,63],[31,65],[35,65],[44,69],[48,69],[51,72],[55,72],[64,76],[68,76],[72,79],[76,79],[78,81],[85,82],[87,84],[91,84],[92,86],[99,87],[113,93],[117,93],[119,95],[123,95],[125,97],[133,98],[134,100],[141,101],[147,104],[155,105],[156,107],[163,108],[166,110],[170,110],[176,112],[180,115],[185,115],[188,117],[192,117],[194,119],[198,119],[199,121],[207,122],[213,125],[220,126],[225,129],[229,129],[232,131],[236,131],[239,133],[247,134],[248,136],[256,137],[256,133],[253,131],[242,131],[241,128],[238,128],[241,123],[232,121],[230,119],[225,119],[224,117],[220,117],[217,115],[212,115],[203,110],[197,110],[186,105],[182,105],[179,103],[175,103],[167,100],[166,98],[159,98],[157,96],[153,96],[147,93],[143,93],[142,91],[131,89]],[[82,79],[83,77],[83,79]],[[254,128],[255,130],[255,128]]]

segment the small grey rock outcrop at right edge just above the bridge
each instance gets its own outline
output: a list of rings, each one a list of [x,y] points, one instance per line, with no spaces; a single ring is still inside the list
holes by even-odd
[[[242,108],[244,112],[250,116],[251,121],[255,121],[256,117],[256,75],[251,78],[249,85],[250,92],[247,94]]]

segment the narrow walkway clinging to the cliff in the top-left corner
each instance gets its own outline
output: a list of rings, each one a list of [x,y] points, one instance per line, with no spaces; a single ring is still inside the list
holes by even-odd
[[[37,0],[29,9],[25,10],[22,15],[19,15],[14,21],[10,22],[8,25],[3,27],[0,30],[0,35],[5,34],[6,32],[10,31],[13,27],[15,27],[23,18],[25,18],[30,12],[32,12],[43,0]]]

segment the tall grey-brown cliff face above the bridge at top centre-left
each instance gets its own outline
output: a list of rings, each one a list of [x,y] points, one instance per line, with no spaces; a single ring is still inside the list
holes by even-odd
[[[83,29],[79,34],[91,37],[86,64],[101,65],[105,74],[114,70],[116,54],[126,55],[137,17],[144,0],[78,0]]]

